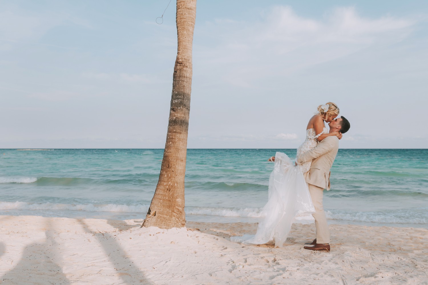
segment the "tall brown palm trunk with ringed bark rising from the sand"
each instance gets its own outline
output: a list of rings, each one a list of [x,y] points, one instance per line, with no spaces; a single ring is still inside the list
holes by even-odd
[[[158,185],[142,227],[181,228],[184,213],[184,173],[192,89],[192,42],[196,0],[177,0],[177,59],[172,77],[171,109]]]

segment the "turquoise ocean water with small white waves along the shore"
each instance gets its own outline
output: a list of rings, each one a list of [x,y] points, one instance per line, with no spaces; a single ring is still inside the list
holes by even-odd
[[[276,151],[187,151],[187,220],[257,222]],[[144,219],[163,150],[0,150],[0,214]],[[324,191],[330,223],[428,227],[428,149],[341,149]],[[309,217],[300,222],[310,222]]]

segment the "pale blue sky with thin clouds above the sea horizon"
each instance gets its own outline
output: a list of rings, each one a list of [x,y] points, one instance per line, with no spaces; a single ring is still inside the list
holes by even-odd
[[[0,1],[0,148],[163,148],[175,2]],[[426,148],[428,1],[197,3],[189,148]]]

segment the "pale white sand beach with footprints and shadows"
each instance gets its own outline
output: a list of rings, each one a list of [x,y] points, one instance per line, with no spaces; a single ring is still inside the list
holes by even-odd
[[[253,223],[140,228],[141,220],[0,216],[0,283],[428,284],[428,229],[330,225],[332,251],[303,250],[313,224],[284,248],[229,236]]]

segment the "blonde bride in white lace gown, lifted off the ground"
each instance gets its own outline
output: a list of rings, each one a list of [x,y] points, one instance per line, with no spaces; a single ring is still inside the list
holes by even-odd
[[[342,138],[342,133],[329,133],[325,123],[330,123],[339,115],[335,103],[318,106],[318,111],[306,127],[306,139],[297,149],[297,156],[314,148],[319,141],[330,135]],[[296,165],[285,153],[277,152],[268,161],[275,162],[269,178],[268,203],[262,209],[264,219],[259,223],[256,235],[231,237],[230,240],[247,245],[275,244],[282,247],[295,217],[315,212],[309,195],[308,184],[303,173],[309,171],[311,162]]]

